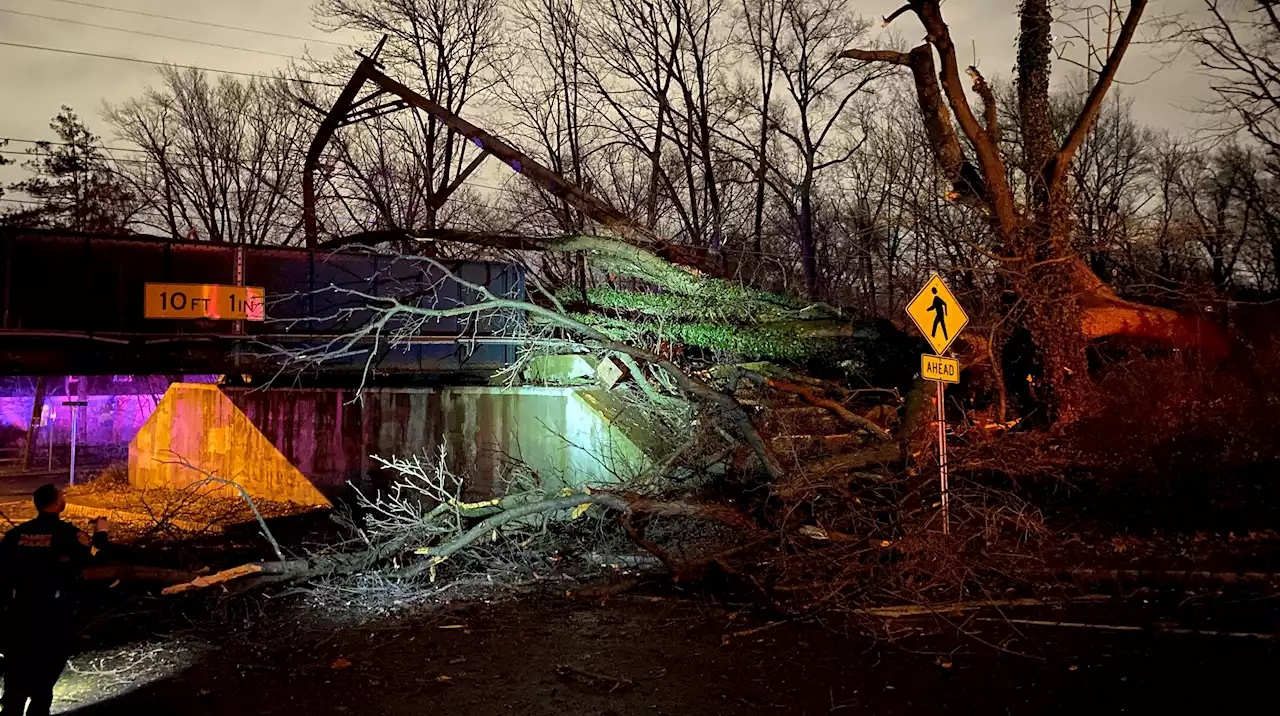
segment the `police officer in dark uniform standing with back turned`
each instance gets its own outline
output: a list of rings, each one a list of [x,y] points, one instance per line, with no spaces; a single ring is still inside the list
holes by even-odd
[[[67,666],[74,637],[73,598],[81,570],[108,544],[106,519],[93,521],[93,535],[64,523],[63,492],[51,484],[32,494],[40,514],[0,541],[0,607],[4,610],[5,716],[45,716],[54,684]],[[31,699],[31,704],[27,704]]]

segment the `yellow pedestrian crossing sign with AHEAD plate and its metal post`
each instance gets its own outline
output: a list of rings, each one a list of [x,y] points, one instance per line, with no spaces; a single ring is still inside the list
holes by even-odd
[[[906,315],[920,329],[934,355],[920,356],[920,378],[937,384],[938,396],[938,488],[942,493],[942,534],[951,533],[951,496],[947,487],[947,403],[946,384],[960,382],[960,361],[946,357],[947,348],[969,325],[969,316],[937,274],[929,277],[906,305]],[[928,327],[928,328],[925,328]]]

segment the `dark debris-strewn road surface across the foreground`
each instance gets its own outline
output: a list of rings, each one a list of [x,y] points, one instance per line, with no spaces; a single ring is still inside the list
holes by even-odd
[[[890,643],[842,616],[774,622],[672,596],[477,601],[362,624],[298,601],[255,607],[266,610],[259,628],[86,651],[55,706],[86,716],[1265,712],[1280,642],[1149,628],[1274,635],[1277,605],[1134,597],[984,611],[960,617],[965,635],[899,621]],[[145,630],[146,616],[129,620]]]

